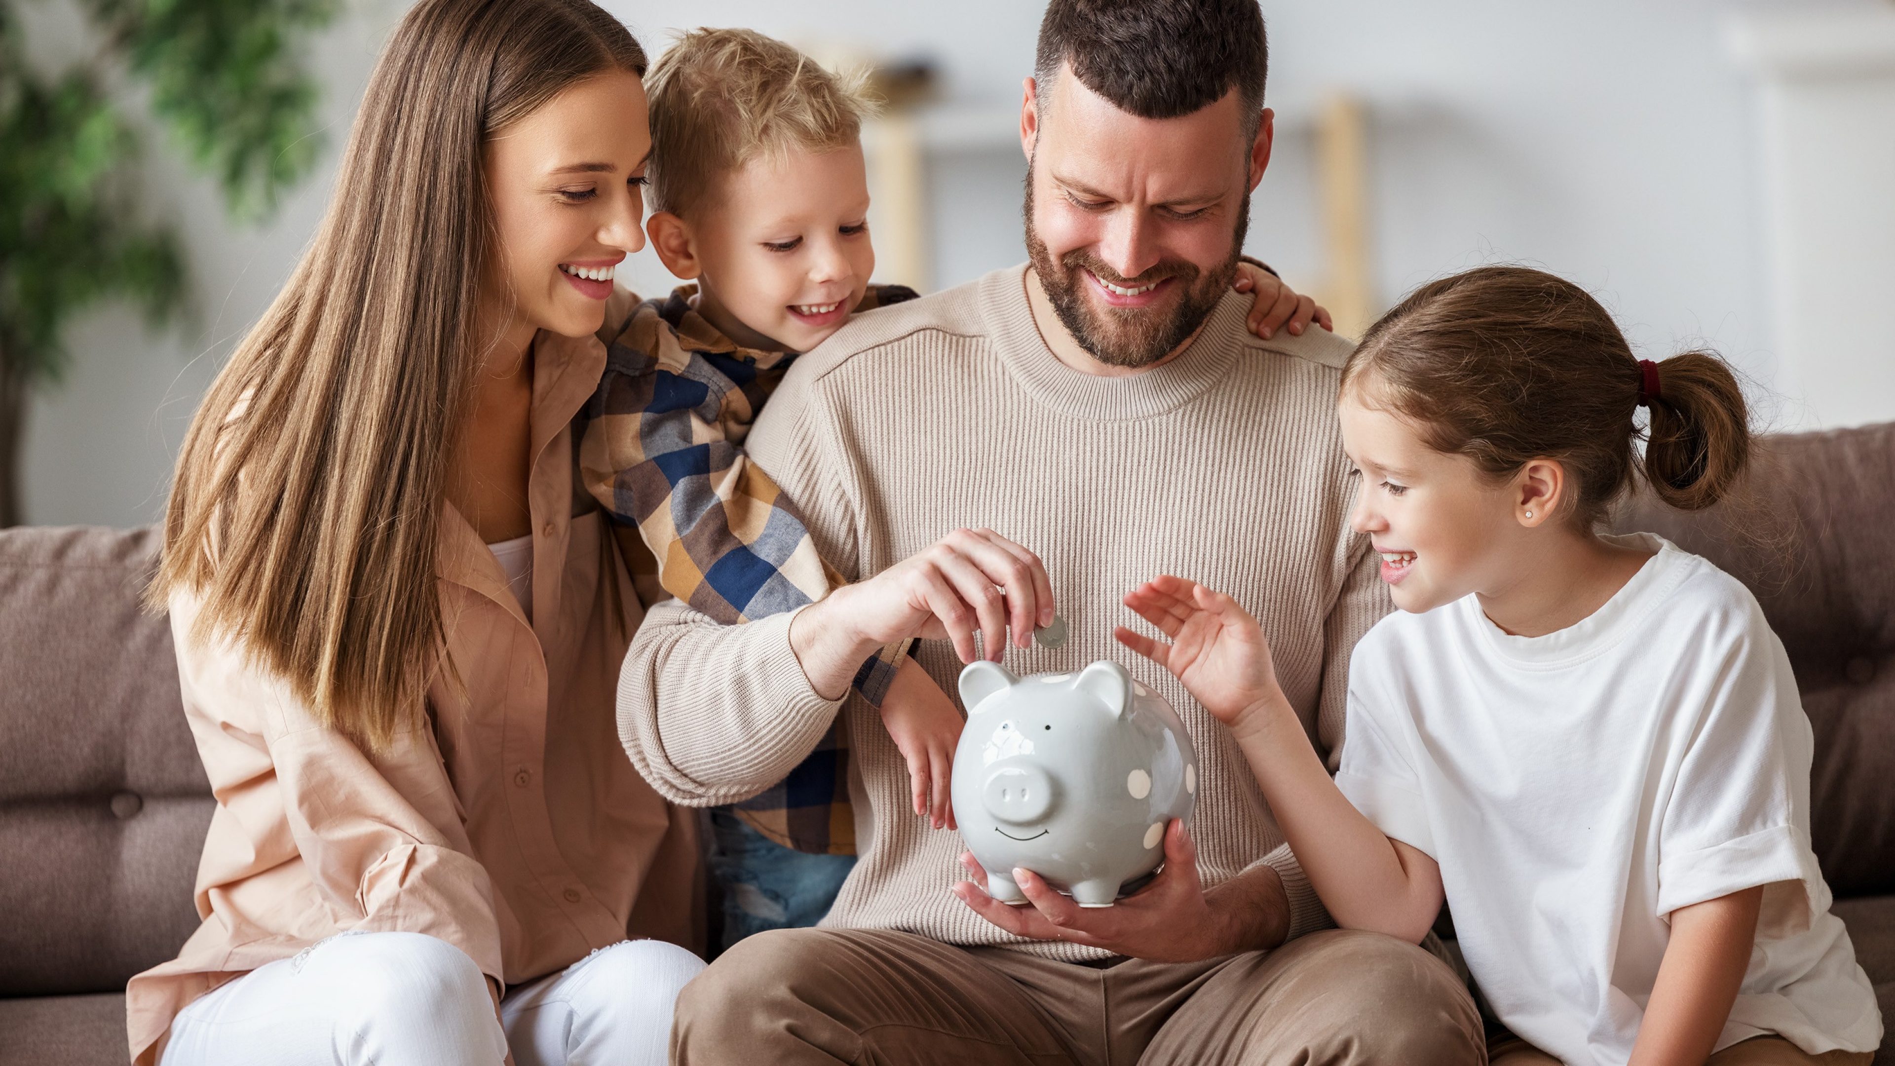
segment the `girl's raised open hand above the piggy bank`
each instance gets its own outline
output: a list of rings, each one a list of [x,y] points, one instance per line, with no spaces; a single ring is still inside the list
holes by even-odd
[[[1184,580],[1160,577],[1126,594],[1126,607],[1158,626],[1171,643],[1118,626],[1118,643],[1169,670],[1226,726],[1253,711],[1283,704],[1270,641],[1236,599]]]

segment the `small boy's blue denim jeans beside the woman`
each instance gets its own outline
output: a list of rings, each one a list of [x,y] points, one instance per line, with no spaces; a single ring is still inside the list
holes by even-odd
[[[785,848],[724,808],[711,810],[711,876],[724,897],[713,958],[750,933],[815,926],[855,867],[855,855]]]

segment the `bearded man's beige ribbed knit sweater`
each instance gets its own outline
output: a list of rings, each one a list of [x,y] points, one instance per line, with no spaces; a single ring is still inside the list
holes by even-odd
[[[1243,322],[1251,298],[1230,294],[1179,358],[1097,377],[1046,349],[1023,285],[1021,266],[857,317],[796,362],[750,432],[750,455],[849,579],[961,525],[1037,552],[1073,635],[1057,651],[1010,647],[1006,666],[1065,671],[1110,658],[1158,689],[1200,753],[1190,831],[1205,888],[1268,861],[1289,891],[1292,935],[1321,928],[1321,903],[1236,744],[1173,677],[1112,641],[1112,626],[1145,626],[1120,597],[1162,573],[1236,596],[1262,620],[1283,690],[1334,757],[1349,649],[1389,611],[1368,541],[1347,525],[1353,487],[1334,404],[1351,345],[1323,330],[1258,340]],[[656,607],[620,677],[633,763],[677,802],[735,802],[796,766],[841,708],[860,859],[824,924],[1012,943],[949,893],[965,876],[961,835],[913,814],[874,708],[809,689],[788,624],[781,615],[724,628],[675,601]],[[951,645],[925,641],[919,658],[955,690]]]

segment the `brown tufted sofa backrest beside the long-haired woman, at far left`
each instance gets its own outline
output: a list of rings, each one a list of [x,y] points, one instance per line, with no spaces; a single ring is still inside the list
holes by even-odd
[[[171,628],[138,605],[155,548],[0,531],[0,996],[121,990],[197,928],[214,802]]]

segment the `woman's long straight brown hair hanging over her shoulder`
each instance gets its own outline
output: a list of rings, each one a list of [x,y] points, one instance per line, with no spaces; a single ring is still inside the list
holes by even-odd
[[[191,421],[148,603],[201,596],[193,639],[239,639],[368,747],[442,670],[438,522],[476,313],[496,298],[483,146],[574,82],[644,64],[589,0],[409,9],[315,243]]]

